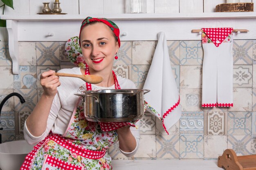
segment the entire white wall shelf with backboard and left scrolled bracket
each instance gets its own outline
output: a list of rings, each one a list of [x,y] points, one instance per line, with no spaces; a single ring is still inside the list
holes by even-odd
[[[94,15],[0,15],[7,20],[13,74],[19,73],[18,41],[67,41],[78,36],[86,16],[105,17],[120,28],[121,41],[156,41],[164,32],[167,40],[200,40],[193,29],[233,27],[247,29],[234,39],[256,39],[256,13],[122,13]]]

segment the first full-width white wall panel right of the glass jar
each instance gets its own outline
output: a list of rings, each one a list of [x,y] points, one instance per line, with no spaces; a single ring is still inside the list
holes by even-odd
[[[155,0],[155,13],[179,13],[179,0]]]

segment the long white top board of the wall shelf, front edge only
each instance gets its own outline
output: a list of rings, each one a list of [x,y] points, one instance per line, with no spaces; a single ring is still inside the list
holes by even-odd
[[[3,20],[45,21],[83,20],[86,16],[105,17],[110,20],[193,20],[193,19],[248,19],[256,18],[256,12],[231,13],[121,13],[89,15],[0,15]]]

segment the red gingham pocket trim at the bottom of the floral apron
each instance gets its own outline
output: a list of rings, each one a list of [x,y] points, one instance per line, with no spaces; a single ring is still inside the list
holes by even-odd
[[[67,163],[65,161],[62,161],[61,159],[55,158],[51,155],[47,155],[45,157],[45,163],[54,166],[56,168],[62,169],[62,170],[83,170],[84,168],[81,166],[76,166],[71,163]],[[42,168],[43,169],[43,168]]]

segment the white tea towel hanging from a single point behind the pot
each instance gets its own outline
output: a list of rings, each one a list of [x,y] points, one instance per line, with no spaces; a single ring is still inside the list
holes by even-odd
[[[157,38],[157,47],[143,88],[150,90],[145,94],[145,101],[150,105],[147,111],[162,120],[168,134],[168,129],[181,116],[180,96],[173,76],[164,32],[158,33]]]

